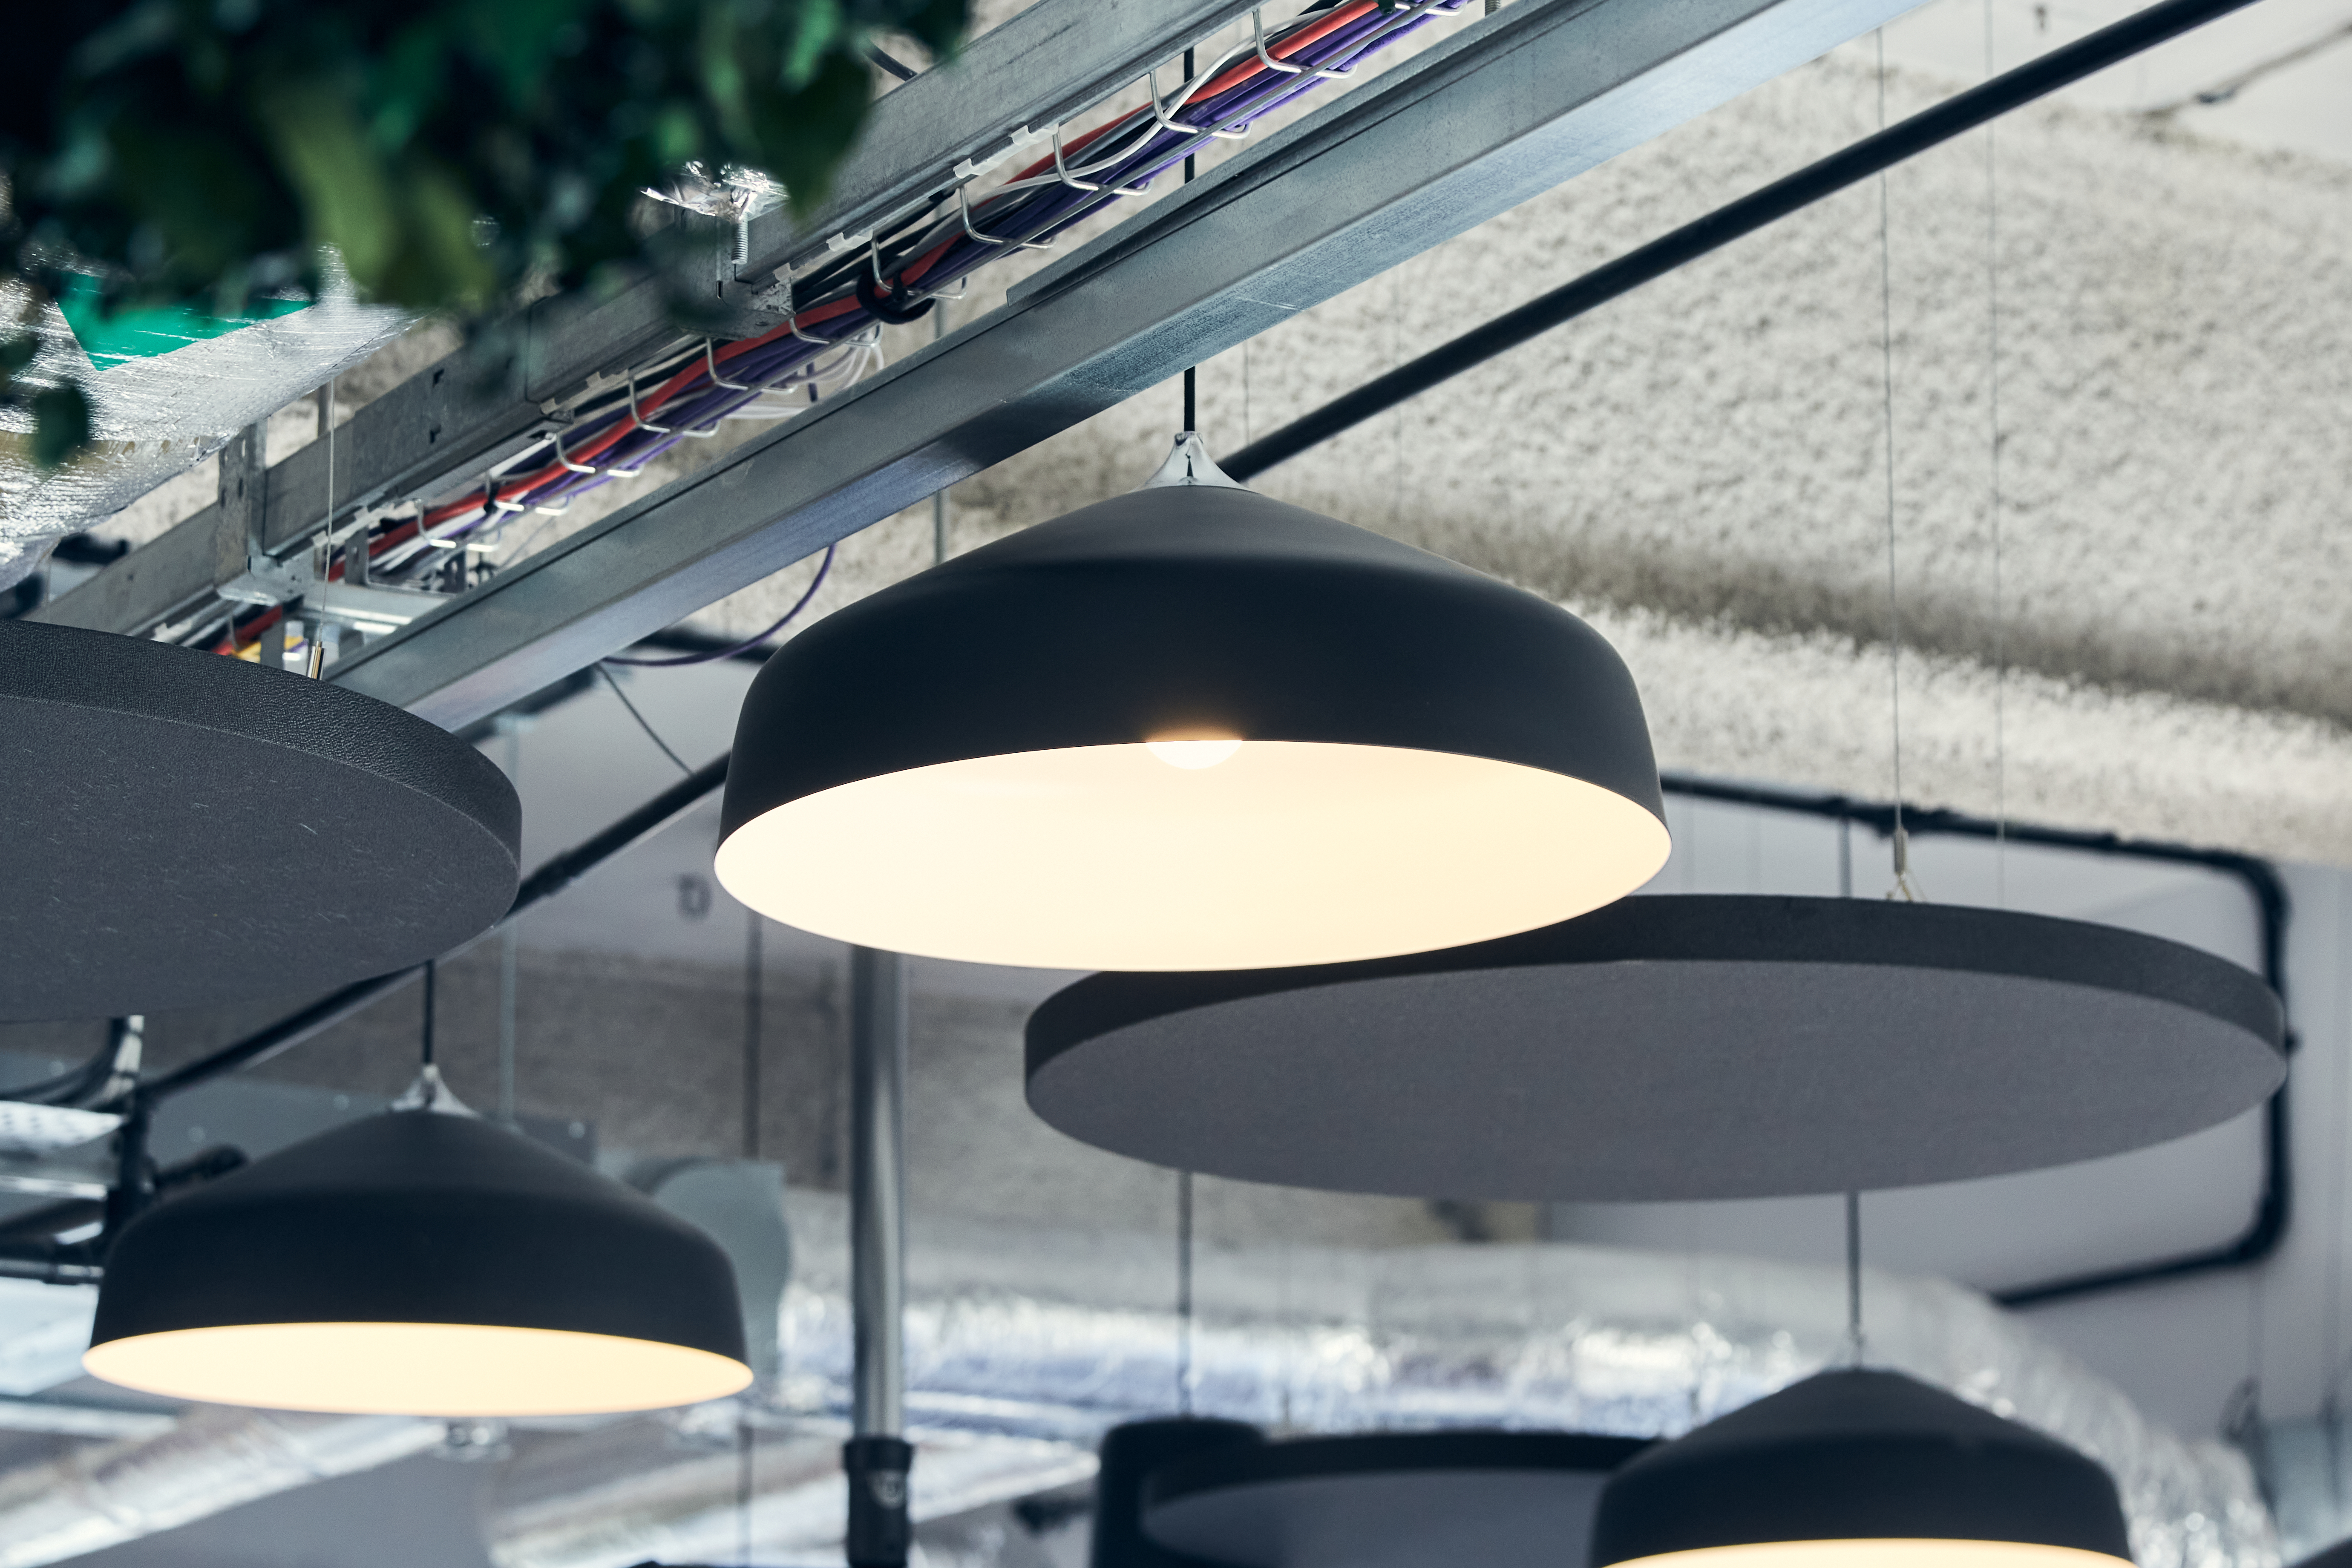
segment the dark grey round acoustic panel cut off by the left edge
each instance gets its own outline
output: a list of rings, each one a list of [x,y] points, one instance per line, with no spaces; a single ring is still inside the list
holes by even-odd
[[[0,1020],[320,992],[480,933],[522,806],[327,682],[0,621]]]

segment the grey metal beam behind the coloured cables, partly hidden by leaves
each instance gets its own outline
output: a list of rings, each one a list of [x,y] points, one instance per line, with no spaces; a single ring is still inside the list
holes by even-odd
[[[807,261],[835,237],[861,240],[908,202],[948,188],[957,165],[1014,153],[1030,129],[1117,92],[1247,9],[1240,0],[1037,0],[971,40],[950,68],[884,94],[821,214],[807,223],[793,223],[788,212],[753,221],[750,261],[741,280],[717,284],[722,303],[743,317],[746,331],[774,327],[781,317],[762,317],[753,301],[779,266]],[[713,244],[722,240],[731,244],[713,226]],[[459,350],[336,430],[334,515],[480,477],[555,428],[548,400],[673,334],[656,282],[607,301],[560,296],[532,306],[520,367],[508,364],[503,348]],[[313,442],[292,454],[268,470],[266,484],[263,543],[282,557],[327,522],[325,447]],[[209,505],[31,618],[146,632],[207,604],[242,574],[245,543],[238,520]]]

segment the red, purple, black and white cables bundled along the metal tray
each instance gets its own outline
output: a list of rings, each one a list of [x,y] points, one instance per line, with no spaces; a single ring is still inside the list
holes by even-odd
[[[447,571],[449,552],[485,545],[524,510],[560,512],[574,496],[633,477],[687,437],[710,437],[724,418],[771,418],[856,381],[880,357],[882,322],[931,310],[938,284],[960,284],[1016,249],[1042,249],[1063,230],[1178,167],[1211,139],[1240,139],[1268,115],[1357,61],[1397,45],[1468,0],[1322,0],[1275,31],[1225,49],[1171,92],[1152,78],[1148,103],[1080,136],[1054,134],[1051,155],[974,200],[953,186],[924,212],[875,233],[800,277],[783,275],[786,324],[755,339],[699,343],[628,374],[621,390],[583,400],[562,435],[524,451],[506,473],[412,520],[379,524],[365,548],[374,581],[421,583]],[[647,383],[647,386],[640,386]],[[517,550],[520,552],[520,550]],[[341,578],[341,562],[329,564]],[[282,611],[238,621],[219,651],[252,646]]]

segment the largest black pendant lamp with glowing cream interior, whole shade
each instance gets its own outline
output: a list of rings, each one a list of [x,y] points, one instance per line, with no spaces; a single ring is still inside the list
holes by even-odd
[[[1632,677],[1576,616],[1242,489],[1143,489],[931,567],[753,682],[717,877],[821,936],[1263,969],[1543,926],[1668,853]]]

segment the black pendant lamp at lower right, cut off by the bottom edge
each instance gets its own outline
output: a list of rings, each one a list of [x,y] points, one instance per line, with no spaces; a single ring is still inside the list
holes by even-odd
[[[1592,1563],[1675,1568],[2114,1568],[2093,1460],[1917,1378],[1835,1371],[1651,1448],[1611,1476]]]

